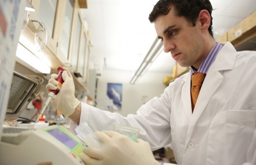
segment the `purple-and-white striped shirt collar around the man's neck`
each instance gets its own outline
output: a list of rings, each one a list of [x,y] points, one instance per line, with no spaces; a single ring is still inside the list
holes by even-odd
[[[206,58],[200,65],[198,71],[194,70],[194,68],[192,68],[190,66],[190,74],[192,75],[195,72],[200,72],[200,73],[206,74],[208,72],[211,64],[216,59],[216,56],[217,56],[218,52],[221,50],[221,48],[222,48],[222,45],[219,42],[216,42],[216,44],[214,45],[212,50],[209,52],[209,54],[206,56]]]

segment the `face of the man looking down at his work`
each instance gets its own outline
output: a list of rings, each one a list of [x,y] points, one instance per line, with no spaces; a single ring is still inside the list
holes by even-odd
[[[199,68],[205,58],[202,33],[197,21],[192,26],[185,19],[175,14],[175,7],[167,15],[161,15],[155,20],[156,33],[164,42],[164,52],[171,52],[171,56],[180,66],[194,66]]]

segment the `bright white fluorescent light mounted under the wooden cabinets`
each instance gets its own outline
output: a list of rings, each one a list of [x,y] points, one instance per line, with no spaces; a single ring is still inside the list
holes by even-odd
[[[51,73],[51,68],[45,64],[42,60],[38,59],[33,53],[26,49],[23,45],[18,43],[16,56],[18,57],[18,62],[27,66],[28,68],[32,68],[34,71],[39,71],[40,73]]]

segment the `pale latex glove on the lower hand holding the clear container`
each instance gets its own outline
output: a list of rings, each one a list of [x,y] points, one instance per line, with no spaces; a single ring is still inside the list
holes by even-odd
[[[160,165],[148,142],[130,140],[114,131],[95,132],[102,148],[85,147],[80,158],[87,165]]]

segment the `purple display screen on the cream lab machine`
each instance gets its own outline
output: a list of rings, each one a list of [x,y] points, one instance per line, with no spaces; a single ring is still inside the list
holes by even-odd
[[[71,137],[57,128],[53,130],[47,130],[47,132],[71,149],[73,149],[78,144]]]

